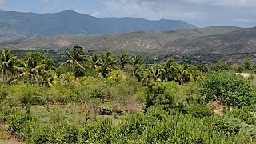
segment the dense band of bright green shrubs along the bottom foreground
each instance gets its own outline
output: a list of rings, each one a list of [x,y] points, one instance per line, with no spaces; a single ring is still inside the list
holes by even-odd
[[[86,122],[82,128],[66,122],[42,125],[18,110],[7,110],[4,118],[8,129],[17,132],[27,143],[256,142],[255,127],[229,114],[201,119],[190,114],[170,115],[153,108],[146,114],[132,114],[116,125],[108,119],[98,119]]]

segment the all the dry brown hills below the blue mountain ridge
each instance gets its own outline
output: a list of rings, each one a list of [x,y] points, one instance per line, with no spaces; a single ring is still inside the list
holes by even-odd
[[[183,57],[182,59],[188,56],[199,58],[198,61],[225,58],[226,61],[230,61],[256,54],[256,28],[215,26],[167,32],[138,31],[93,36],[58,35],[2,42],[0,47],[11,47],[14,50],[63,51],[72,48],[75,44],[84,46],[90,51],[129,52],[150,55],[152,58],[179,55]]]

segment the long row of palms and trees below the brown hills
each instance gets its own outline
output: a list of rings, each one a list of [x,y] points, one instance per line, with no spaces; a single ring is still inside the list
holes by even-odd
[[[137,78],[143,85],[156,81],[175,81],[182,85],[204,78],[200,67],[182,65],[173,59],[145,66],[140,55],[122,54],[116,57],[107,52],[90,56],[81,46],[74,46],[72,51],[66,51],[66,55],[66,62],[57,65],[53,59],[40,52],[28,52],[22,58],[18,58],[10,49],[3,49],[0,55],[2,83],[14,84],[22,80],[40,86],[52,86],[58,82],[65,82],[66,78],[72,76],[118,80],[129,75]]]

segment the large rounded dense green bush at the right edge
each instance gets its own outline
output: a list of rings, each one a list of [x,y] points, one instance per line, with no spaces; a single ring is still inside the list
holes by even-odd
[[[213,72],[202,81],[201,94],[206,102],[218,101],[226,106],[253,106],[256,93],[250,82],[233,72]]]

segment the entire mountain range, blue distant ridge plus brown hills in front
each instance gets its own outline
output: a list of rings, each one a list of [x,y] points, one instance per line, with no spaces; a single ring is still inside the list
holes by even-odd
[[[142,54],[156,60],[256,62],[256,27],[196,28],[182,21],[95,18],[72,10],[56,14],[0,12],[0,48]]]

